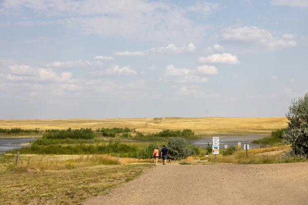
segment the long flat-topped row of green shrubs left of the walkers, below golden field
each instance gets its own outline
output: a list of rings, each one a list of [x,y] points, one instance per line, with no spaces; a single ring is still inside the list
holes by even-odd
[[[43,138],[47,139],[92,139],[94,136],[95,134],[90,128],[81,128],[79,130],[72,130],[71,128],[67,130],[46,130],[43,134]]]

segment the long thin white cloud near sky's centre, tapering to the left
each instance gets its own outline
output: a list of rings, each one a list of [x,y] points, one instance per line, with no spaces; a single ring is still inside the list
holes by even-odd
[[[175,44],[168,44],[166,47],[151,48],[145,51],[125,51],[116,52],[116,56],[145,56],[149,53],[162,53],[162,54],[180,54],[180,53],[193,53],[196,47],[193,43],[188,45],[177,46]]]

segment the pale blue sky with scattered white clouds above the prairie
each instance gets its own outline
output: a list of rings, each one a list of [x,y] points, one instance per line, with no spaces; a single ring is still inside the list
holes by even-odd
[[[0,0],[0,118],[276,117],[308,0]]]

